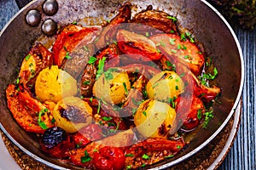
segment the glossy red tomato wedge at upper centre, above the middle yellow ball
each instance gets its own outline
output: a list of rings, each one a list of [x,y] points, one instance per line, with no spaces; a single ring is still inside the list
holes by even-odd
[[[119,30],[117,33],[119,49],[125,54],[133,54],[137,60],[151,61],[160,59],[161,54],[153,41],[131,31]]]

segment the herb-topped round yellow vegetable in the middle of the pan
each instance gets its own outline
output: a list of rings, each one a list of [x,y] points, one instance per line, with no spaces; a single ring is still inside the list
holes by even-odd
[[[126,72],[105,72],[95,82],[93,94],[98,99],[117,105],[124,101],[130,89],[131,82]]]

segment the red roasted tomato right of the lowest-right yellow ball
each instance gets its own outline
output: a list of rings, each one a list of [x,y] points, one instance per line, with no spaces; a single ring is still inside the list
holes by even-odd
[[[195,97],[179,97],[177,98],[177,119],[183,122],[183,128],[192,130],[197,127],[201,121],[205,107],[201,99]]]

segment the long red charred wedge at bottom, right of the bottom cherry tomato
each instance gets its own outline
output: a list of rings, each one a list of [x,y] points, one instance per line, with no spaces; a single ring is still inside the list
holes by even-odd
[[[184,147],[183,140],[146,139],[133,144],[125,151],[125,166],[137,169],[162,161],[165,157],[175,156]]]

